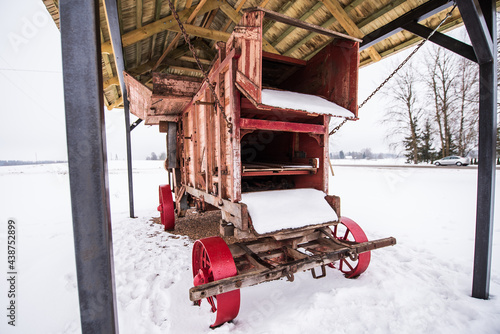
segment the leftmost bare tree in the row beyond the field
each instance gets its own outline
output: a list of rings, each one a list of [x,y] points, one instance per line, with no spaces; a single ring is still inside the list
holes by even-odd
[[[418,122],[422,108],[417,105],[417,74],[410,63],[394,76],[393,83],[386,90],[386,95],[393,101],[388,108],[383,123],[391,127],[390,136],[396,136],[396,143],[403,137],[404,149],[408,161],[418,163],[420,130]]]

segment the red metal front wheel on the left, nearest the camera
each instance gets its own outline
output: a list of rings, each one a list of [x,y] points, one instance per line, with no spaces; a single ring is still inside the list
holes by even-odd
[[[236,276],[237,270],[233,255],[221,237],[210,237],[197,240],[193,247],[193,281],[194,286]],[[207,298],[216,312],[215,322],[211,328],[231,321],[240,310],[240,290],[222,293]],[[198,302],[198,305],[201,301]]]

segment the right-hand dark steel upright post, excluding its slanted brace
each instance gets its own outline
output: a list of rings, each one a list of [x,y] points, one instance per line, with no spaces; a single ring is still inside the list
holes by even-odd
[[[472,296],[489,298],[493,220],[495,208],[495,164],[497,136],[497,36],[494,1],[480,1],[492,60],[479,64],[479,167],[477,180],[476,245]]]

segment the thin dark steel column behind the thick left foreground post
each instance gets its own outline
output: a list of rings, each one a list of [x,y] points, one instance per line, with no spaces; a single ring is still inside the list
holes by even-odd
[[[123,111],[125,116],[125,136],[127,142],[127,170],[128,170],[128,200],[130,218],[135,218],[134,213],[134,184],[132,180],[132,144],[130,142],[130,113],[129,103],[127,98],[127,89],[123,78],[125,71],[125,62],[123,60],[122,39],[120,34],[120,21],[118,19],[118,5],[116,0],[105,0],[104,9],[108,22],[109,35],[111,37],[111,45],[113,46],[113,55],[116,64],[116,74],[120,81],[120,88],[123,98]]]

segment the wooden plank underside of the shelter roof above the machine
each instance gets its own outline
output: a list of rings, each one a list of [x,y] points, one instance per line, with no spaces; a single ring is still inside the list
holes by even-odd
[[[59,27],[59,1],[42,0]],[[147,86],[152,87],[152,70],[158,72],[201,77],[193,55],[181,37],[176,43],[179,28],[168,4],[169,0],[117,0],[125,69]],[[195,45],[197,55],[207,68],[215,57],[215,43],[226,41],[241,18],[242,10],[265,7],[286,16],[306,21],[326,29],[363,38],[377,29],[403,17],[421,5],[436,0],[172,0],[185,22],[194,10],[199,10],[186,30]],[[497,8],[500,0],[496,2]],[[419,23],[434,29],[452,8],[447,7]],[[101,49],[104,96],[108,109],[123,105],[103,0],[100,0]],[[438,29],[446,32],[462,25],[455,9]],[[331,38],[295,28],[284,23],[266,20],[264,50],[293,58],[308,60]],[[418,37],[409,31],[392,32],[360,53],[360,65],[367,66],[391,54],[418,43]]]

